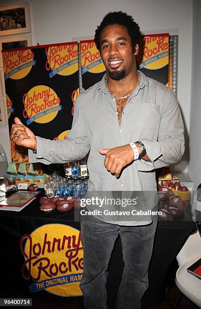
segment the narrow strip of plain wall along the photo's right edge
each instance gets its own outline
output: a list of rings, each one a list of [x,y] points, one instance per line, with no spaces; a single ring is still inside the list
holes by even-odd
[[[193,36],[192,36],[192,81],[190,108],[190,161],[189,175],[194,189],[201,182],[201,1],[193,0]]]

